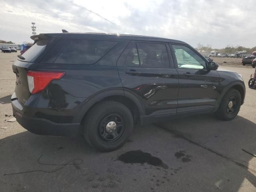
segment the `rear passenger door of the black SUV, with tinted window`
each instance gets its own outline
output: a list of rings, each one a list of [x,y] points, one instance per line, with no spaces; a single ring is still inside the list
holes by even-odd
[[[117,67],[124,89],[140,98],[147,115],[176,114],[178,73],[168,44],[132,41]]]

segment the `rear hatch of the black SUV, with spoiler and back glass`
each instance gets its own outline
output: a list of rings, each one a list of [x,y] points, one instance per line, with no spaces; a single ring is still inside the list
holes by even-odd
[[[25,104],[30,97],[27,80],[28,70],[52,48],[52,42],[56,42],[56,40],[52,40],[56,38],[45,34],[31,36],[31,38],[34,40],[34,45],[22,56],[18,56],[18,60],[12,64],[12,70],[16,74],[16,99],[22,104]]]

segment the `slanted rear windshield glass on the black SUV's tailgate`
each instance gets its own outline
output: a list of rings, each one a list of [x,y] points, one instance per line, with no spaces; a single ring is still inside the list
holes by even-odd
[[[34,62],[36,58],[44,51],[48,40],[39,40],[32,47],[30,47],[22,56],[25,58],[22,61]]]

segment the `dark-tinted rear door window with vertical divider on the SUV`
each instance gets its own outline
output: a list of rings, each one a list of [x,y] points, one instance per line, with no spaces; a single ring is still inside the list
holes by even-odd
[[[165,44],[137,43],[132,45],[126,58],[128,66],[168,68],[169,58]],[[139,59],[140,58],[140,59]]]

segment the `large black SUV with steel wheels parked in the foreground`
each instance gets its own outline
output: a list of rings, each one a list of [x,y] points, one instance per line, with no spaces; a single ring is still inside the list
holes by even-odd
[[[244,103],[236,72],[217,70],[190,45],[149,36],[60,33],[12,69],[17,121],[35,134],[84,135],[100,151],[122,146],[134,124],[216,112],[232,120]]]

